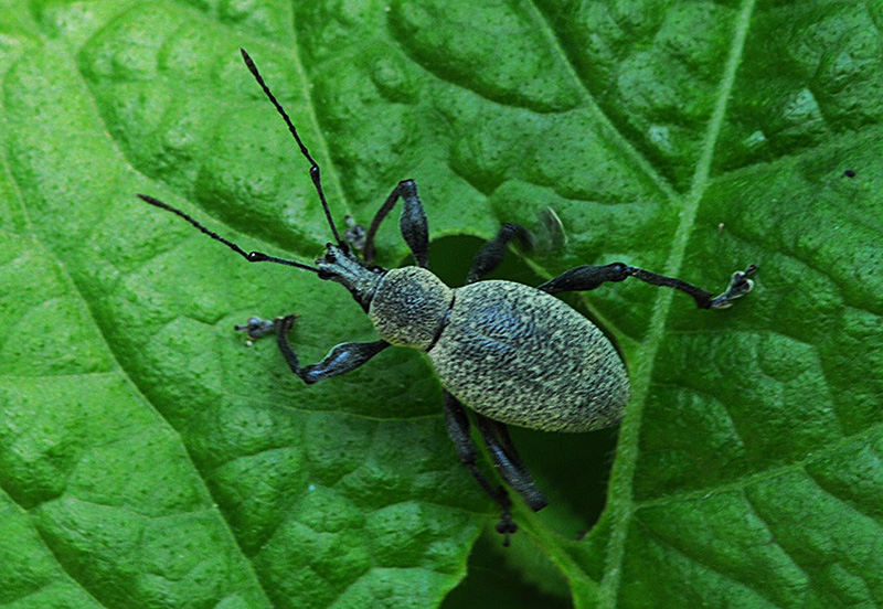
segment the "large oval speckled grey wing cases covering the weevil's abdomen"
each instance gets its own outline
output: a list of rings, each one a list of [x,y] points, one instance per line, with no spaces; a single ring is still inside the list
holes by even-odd
[[[442,383],[492,419],[547,431],[588,431],[623,416],[626,368],[592,322],[561,300],[510,281],[454,290],[428,351]]]

